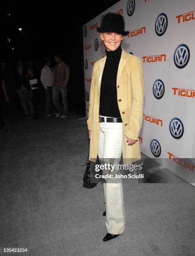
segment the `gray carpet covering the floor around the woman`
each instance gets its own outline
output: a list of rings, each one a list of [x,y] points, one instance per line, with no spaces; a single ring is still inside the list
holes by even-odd
[[[7,121],[8,133],[0,130],[1,253],[27,248],[15,255],[195,255],[195,187],[187,183],[124,180],[125,232],[102,241],[103,186],[83,187],[87,125],[78,118],[16,118]]]

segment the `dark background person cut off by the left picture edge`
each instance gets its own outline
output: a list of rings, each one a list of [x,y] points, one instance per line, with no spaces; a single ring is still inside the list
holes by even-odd
[[[3,120],[3,101],[4,101],[3,97],[5,96],[5,100],[8,103],[9,103],[9,100],[8,100],[7,92],[5,89],[5,80],[3,79],[3,77],[0,77],[0,83],[1,83],[1,86],[0,86],[0,125],[2,126],[3,130],[5,132],[7,132],[8,128],[5,126],[5,122]]]

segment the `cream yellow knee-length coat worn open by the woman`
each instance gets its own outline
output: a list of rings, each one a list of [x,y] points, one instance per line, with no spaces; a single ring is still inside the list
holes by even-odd
[[[101,77],[106,56],[95,62],[91,77],[88,130],[91,130],[89,159],[96,161],[99,145],[99,100]],[[139,132],[142,127],[144,110],[144,79],[142,61],[122,48],[116,78],[117,101],[123,123],[124,164],[140,159]],[[127,138],[136,140],[128,146]],[[114,139],[114,138],[113,138]]]

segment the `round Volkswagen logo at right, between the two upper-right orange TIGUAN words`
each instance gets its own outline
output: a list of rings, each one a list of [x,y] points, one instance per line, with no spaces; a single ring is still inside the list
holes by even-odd
[[[180,44],[177,46],[174,52],[174,63],[178,69],[184,68],[190,60],[190,49],[186,44]]]

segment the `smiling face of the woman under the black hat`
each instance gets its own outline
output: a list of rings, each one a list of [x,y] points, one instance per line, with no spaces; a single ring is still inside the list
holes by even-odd
[[[115,32],[100,33],[100,36],[101,40],[104,41],[104,45],[108,51],[115,51],[123,40],[123,36]]]

